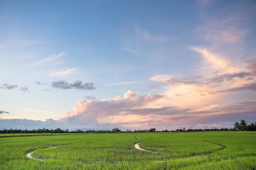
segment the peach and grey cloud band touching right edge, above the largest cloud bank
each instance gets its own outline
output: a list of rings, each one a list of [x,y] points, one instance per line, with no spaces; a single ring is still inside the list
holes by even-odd
[[[158,84],[164,86],[187,87],[190,92],[201,92],[200,95],[211,95],[216,93],[234,91],[256,91],[256,61],[245,62],[244,68],[239,71],[226,73],[226,71],[212,73],[212,77],[207,75],[193,77],[170,77],[170,75],[156,75],[150,80],[156,84],[149,86],[155,88]],[[223,65],[223,67],[228,67]],[[234,66],[233,66],[234,67]]]

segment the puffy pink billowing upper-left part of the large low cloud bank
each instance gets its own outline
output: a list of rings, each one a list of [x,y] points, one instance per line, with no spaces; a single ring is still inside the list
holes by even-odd
[[[101,119],[112,115],[120,115],[124,114],[128,108],[150,107],[153,102],[163,97],[163,95],[138,96],[128,91],[125,93],[124,98],[117,96],[106,101],[90,100],[89,102],[79,100],[73,107],[74,110],[66,113],[65,118],[76,115],[76,117],[79,116],[81,119],[85,117]]]

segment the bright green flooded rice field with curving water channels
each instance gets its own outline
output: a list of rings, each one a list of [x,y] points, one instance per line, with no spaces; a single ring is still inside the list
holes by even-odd
[[[0,145],[0,170],[256,170],[255,132],[2,137]]]

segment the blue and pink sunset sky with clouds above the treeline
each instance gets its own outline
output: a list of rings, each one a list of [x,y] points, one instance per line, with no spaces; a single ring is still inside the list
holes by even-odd
[[[256,121],[255,0],[0,0],[0,129]]]

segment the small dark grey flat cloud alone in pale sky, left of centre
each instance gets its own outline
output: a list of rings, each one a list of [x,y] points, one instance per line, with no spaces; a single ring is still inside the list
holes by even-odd
[[[75,89],[81,89],[81,90],[95,89],[94,84],[92,82],[83,84],[83,82],[81,80],[76,80],[72,84],[68,83],[66,80],[55,81],[55,82],[52,82],[52,87],[53,88],[61,88],[61,89],[75,88]]]

